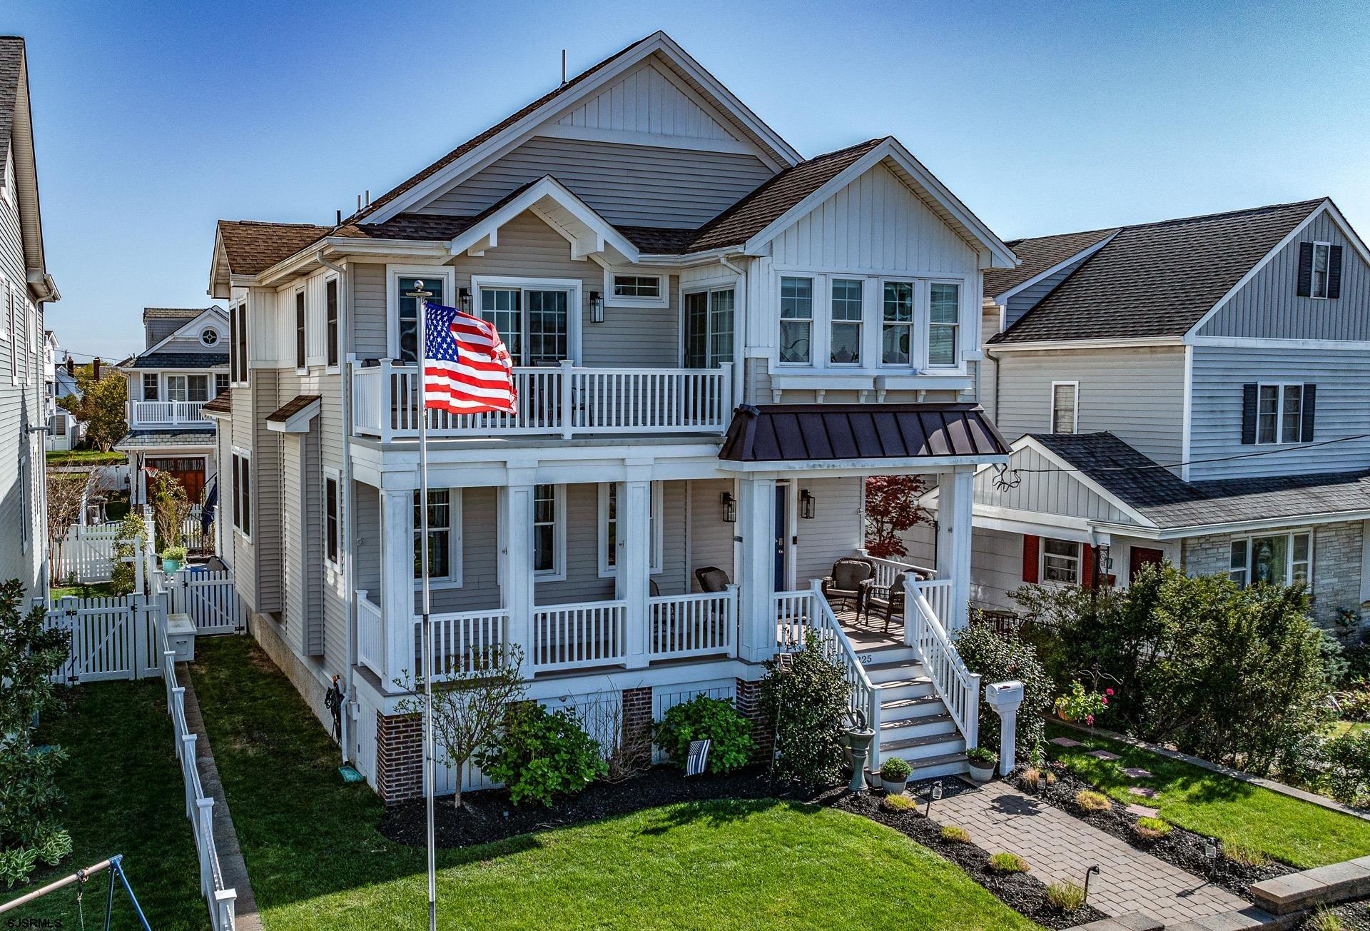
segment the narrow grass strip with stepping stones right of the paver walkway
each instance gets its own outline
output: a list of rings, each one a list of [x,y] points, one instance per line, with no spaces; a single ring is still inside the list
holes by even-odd
[[[1318,808],[1238,779],[1210,772],[1147,750],[1089,738],[1074,728],[1047,725],[1047,736],[1080,740],[1080,747],[1048,743],[1052,760],[1066,764],[1082,779],[1121,802],[1141,802],[1160,809],[1160,816],[1182,828],[1252,847],[1295,867],[1322,867],[1370,854],[1370,821]],[[1104,761],[1089,750],[1111,750],[1122,760]],[[1125,766],[1140,766],[1151,779],[1132,779]],[[1159,794],[1148,801],[1128,793],[1147,786]]]

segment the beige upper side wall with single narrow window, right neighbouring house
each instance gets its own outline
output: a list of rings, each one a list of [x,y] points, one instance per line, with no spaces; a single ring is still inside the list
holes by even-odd
[[[1156,462],[1178,462],[1185,354],[1180,347],[996,352],[995,422],[1008,442],[1049,433],[1051,383],[1080,383],[1080,432],[1110,431]]]

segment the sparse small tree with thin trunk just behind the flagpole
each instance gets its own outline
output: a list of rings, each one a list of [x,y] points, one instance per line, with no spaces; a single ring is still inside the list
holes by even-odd
[[[433,739],[447,751],[456,771],[455,806],[462,808],[462,772],[478,750],[493,753],[499,746],[504,712],[523,701],[523,650],[519,646],[492,646],[473,650],[469,657],[434,669],[447,681],[433,683]],[[401,714],[423,713],[423,679],[406,673],[396,684],[410,692],[397,702]]]

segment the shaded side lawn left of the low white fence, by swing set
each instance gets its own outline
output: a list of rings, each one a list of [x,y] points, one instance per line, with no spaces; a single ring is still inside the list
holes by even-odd
[[[0,887],[0,899],[122,853],[129,882],[152,927],[199,931],[208,924],[208,910],[200,898],[200,867],[185,819],[181,768],[171,751],[171,718],[162,680],[90,683],[78,686],[73,698],[64,714],[44,718],[37,736],[70,753],[59,779],[67,797],[62,824],[74,849],[60,865],[34,873],[30,886]],[[101,873],[86,887],[86,927],[103,927],[108,876]],[[26,927],[81,927],[73,888],[51,893],[4,917],[51,921]],[[0,927],[10,926],[0,921]],[[122,888],[114,897],[111,927],[141,927]]]

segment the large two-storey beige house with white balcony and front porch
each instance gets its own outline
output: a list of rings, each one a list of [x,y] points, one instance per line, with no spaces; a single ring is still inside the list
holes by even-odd
[[[345,753],[386,799],[419,791],[396,713],[419,280],[499,326],[521,395],[516,417],[429,418],[440,668],[514,643],[534,699],[630,728],[697,694],[755,716],[778,625],[854,632],[810,580],[862,546],[863,479],[888,473],[956,494],[927,610],[959,628],[973,470],[1007,455],[973,403],[981,276],[1015,261],[895,138],[806,159],[663,33],[336,226],[221,221],[233,388],[203,413],[252,631],[319,717],[341,677]],[[869,625],[880,750],[962,771],[973,725],[895,621]]]

